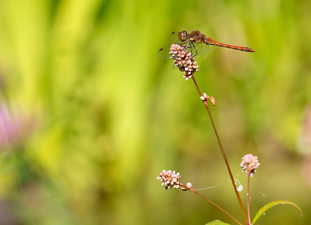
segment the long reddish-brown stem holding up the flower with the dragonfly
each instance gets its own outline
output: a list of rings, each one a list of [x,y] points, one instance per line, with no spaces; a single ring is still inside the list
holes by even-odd
[[[196,82],[196,80],[195,80],[194,73],[192,73],[192,79],[193,79],[193,82],[194,82],[195,86],[197,87],[197,91],[199,92],[199,95],[202,96],[201,91],[200,91],[199,87],[197,86],[197,82]],[[232,181],[234,190],[235,190],[235,194],[236,194],[236,196],[237,196],[237,198],[238,198],[238,201],[239,201],[239,204],[240,204],[240,207],[241,207],[241,210],[242,210],[244,219],[245,219],[245,221],[246,221],[246,224],[249,225],[250,223],[248,222],[248,218],[247,218],[247,215],[246,215],[246,212],[245,212],[245,209],[244,209],[242,200],[241,200],[241,198],[240,198],[239,192],[238,192],[238,190],[237,190],[237,188],[236,188],[236,185],[235,185],[235,183],[234,183],[234,179],[233,179],[233,176],[232,176],[232,173],[231,173],[231,170],[230,170],[230,166],[229,166],[227,157],[226,157],[226,155],[225,155],[224,149],[222,148],[222,145],[221,145],[221,142],[220,142],[220,138],[219,138],[219,136],[218,136],[218,133],[217,133],[217,130],[216,130],[216,126],[215,126],[215,124],[214,124],[214,120],[213,120],[213,118],[212,118],[210,109],[209,109],[208,106],[207,106],[207,101],[203,101],[203,102],[204,102],[204,105],[205,105],[205,107],[206,107],[206,109],[207,109],[208,115],[210,116],[211,122],[212,122],[212,124],[213,124],[213,128],[214,128],[214,131],[215,131],[217,140],[218,140],[218,144],[219,144],[219,147],[220,147],[220,149],[221,149],[222,155],[223,155],[223,157],[224,157],[224,159],[225,159],[225,163],[226,163],[226,166],[227,166],[227,169],[228,169],[228,172],[229,172],[229,175],[230,175],[230,178],[231,178],[231,181]]]

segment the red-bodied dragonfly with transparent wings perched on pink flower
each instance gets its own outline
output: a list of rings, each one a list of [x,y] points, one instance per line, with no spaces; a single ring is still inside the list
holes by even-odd
[[[201,59],[210,50],[210,45],[217,45],[225,48],[236,49],[245,52],[255,52],[251,48],[239,47],[234,45],[225,45],[216,42],[210,38],[207,38],[203,33],[198,30],[183,30],[180,32],[171,33],[171,39],[179,45],[185,47],[188,52],[191,52],[191,56],[195,57],[195,60]],[[171,45],[165,46],[158,51],[157,57],[159,59],[169,59],[172,55],[169,54]],[[173,65],[173,69],[178,67]]]

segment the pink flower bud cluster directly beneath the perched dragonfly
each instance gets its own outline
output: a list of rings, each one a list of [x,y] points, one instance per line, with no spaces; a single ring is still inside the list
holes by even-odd
[[[171,45],[170,49],[171,51],[169,54],[171,54],[171,58],[174,59],[174,65],[177,66],[181,72],[186,74],[183,76],[186,80],[192,77],[192,71],[199,71],[197,69],[199,66],[196,66],[197,62],[194,61],[195,57],[191,57],[191,52],[188,52],[188,49],[177,44]]]

